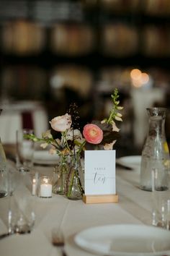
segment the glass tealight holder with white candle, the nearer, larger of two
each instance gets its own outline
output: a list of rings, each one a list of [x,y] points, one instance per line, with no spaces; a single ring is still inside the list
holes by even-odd
[[[41,176],[39,178],[38,196],[41,198],[52,197],[53,178],[50,176]]]

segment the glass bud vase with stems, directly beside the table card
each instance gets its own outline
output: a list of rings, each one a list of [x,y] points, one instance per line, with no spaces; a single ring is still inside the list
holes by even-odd
[[[71,156],[71,165],[66,176],[65,195],[70,200],[82,199],[84,174],[79,155]]]

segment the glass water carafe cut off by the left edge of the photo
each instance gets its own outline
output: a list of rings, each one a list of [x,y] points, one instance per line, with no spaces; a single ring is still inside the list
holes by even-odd
[[[2,109],[0,109],[1,115]],[[7,168],[6,168],[6,155],[4,153],[4,148],[1,144],[1,137],[0,137],[0,198],[6,197],[8,194],[8,175],[7,175]]]

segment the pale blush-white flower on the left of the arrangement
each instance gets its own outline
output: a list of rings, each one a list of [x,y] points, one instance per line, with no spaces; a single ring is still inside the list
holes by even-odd
[[[71,124],[71,115],[68,115],[67,113],[63,116],[57,116],[50,121],[51,127],[56,132],[65,132],[66,129],[70,129]]]

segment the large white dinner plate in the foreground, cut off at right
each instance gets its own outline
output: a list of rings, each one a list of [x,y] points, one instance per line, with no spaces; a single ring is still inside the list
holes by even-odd
[[[155,226],[98,226],[76,234],[75,242],[82,249],[98,255],[170,255],[170,232]]]

